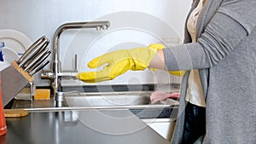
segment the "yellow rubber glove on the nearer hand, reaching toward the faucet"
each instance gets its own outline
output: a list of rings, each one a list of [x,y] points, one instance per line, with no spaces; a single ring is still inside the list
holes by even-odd
[[[77,78],[85,83],[96,83],[116,78],[128,70],[144,70],[149,66],[149,62],[154,58],[154,55],[156,55],[156,51],[157,49],[148,47],[123,49],[101,55],[94,60],[90,60],[88,66],[96,68],[108,64],[103,67],[102,71],[80,72]]]

